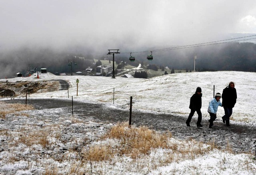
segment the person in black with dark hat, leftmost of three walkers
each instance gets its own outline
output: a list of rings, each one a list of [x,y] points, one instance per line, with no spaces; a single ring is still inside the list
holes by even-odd
[[[186,121],[186,125],[190,126],[190,122],[192,119],[192,116],[196,112],[198,114],[196,126],[197,127],[202,127],[201,121],[202,121],[202,112],[201,112],[201,107],[202,107],[202,89],[200,87],[196,88],[196,93],[192,95],[190,98],[190,114],[188,115],[188,119]]]

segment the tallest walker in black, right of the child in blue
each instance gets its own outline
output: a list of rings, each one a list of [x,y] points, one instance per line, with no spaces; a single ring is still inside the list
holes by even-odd
[[[232,115],[233,108],[236,104],[236,98],[237,95],[235,84],[231,81],[222,92],[222,106],[225,111],[225,115],[222,117],[222,121],[223,123],[226,122],[227,126],[230,126],[229,118]]]

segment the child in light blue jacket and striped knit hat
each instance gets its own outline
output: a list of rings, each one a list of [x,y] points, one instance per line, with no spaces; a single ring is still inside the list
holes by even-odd
[[[209,102],[209,107],[208,107],[208,112],[210,114],[210,120],[208,120],[210,122],[209,128],[212,128],[213,121],[216,120],[217,118],[216,114],[217,114],[218,106],[222,106],[222,103],[220,102],[220,97],[221,97],[221,94],[216,93],[215,97]]]

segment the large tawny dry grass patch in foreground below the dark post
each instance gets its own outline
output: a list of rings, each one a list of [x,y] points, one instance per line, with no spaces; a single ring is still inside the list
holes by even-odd
[[[168,148],[168,138],[171,136],[170,132],[159,134],[145,126],[129,128],[128,123],[119,123],[102,138],[118,140],[118,145],[116,147],[112,147],[111,144],[91,146],[83,153],[84,159],[104,161],[111,159],[114,155],[127,155],[136,159],[142,155],[149,155],[153,148]]]

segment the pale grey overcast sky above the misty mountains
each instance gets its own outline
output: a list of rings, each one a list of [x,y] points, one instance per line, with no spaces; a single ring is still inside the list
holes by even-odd
[[[256,1],[0,0],[0,24],[0,51],[21,45],[141,51],[256,33]]]

